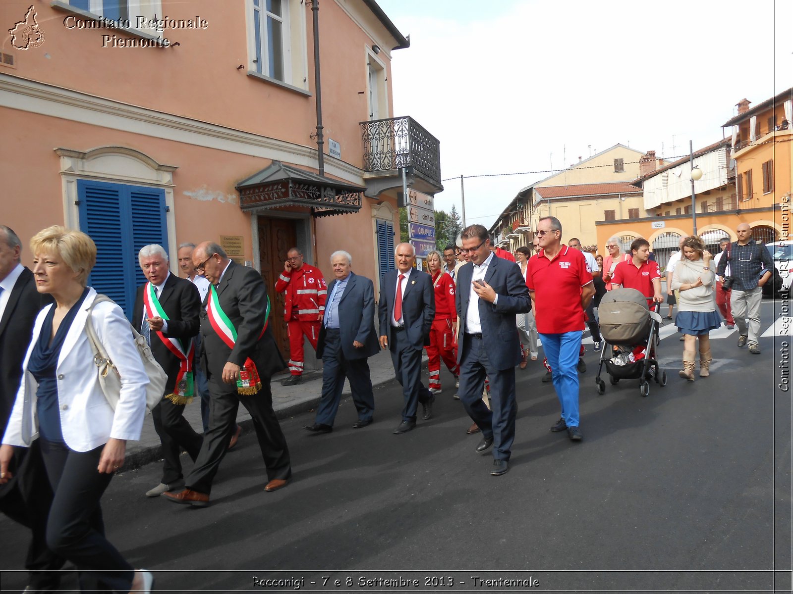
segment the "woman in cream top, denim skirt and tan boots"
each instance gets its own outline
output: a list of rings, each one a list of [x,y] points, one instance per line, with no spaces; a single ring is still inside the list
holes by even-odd
[[[693,382],[696,343],[699,341],[699,377],[704,378],[710,375],[713,360],[710,332],[722,325],[722,318],[716,311],[713,256],[699,235],[685,238],[682,250],[672,274],[672,291],[680,291],[675,326],[685,340],[680,377]]]

